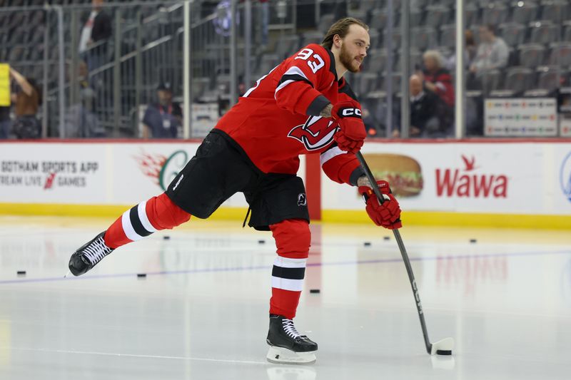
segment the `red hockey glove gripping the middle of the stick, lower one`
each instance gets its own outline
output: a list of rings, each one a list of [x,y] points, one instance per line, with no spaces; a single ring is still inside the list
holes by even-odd
[[[373,189],[368,186],[359,186],[359,192],[365,198],[367,204],[365,208],[370,219],[375,222],[375,225],[381,225],[389,230],[403,227],[403,223],[400,222],[400,207],[396,198],[391,194],[388,182],[377,181],[377,185],[385,198],[383,205],[379,204]]]

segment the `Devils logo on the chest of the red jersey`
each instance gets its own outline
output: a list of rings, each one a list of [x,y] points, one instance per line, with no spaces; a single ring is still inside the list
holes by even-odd
[[[305,124],[298,125],[290,130],[288,137],[299,140],[305,149],[318,150],[327,146],[332,140],[333,135],[338,130],[338,126],[332,120],[322,118],[321,116],[310,116]]]

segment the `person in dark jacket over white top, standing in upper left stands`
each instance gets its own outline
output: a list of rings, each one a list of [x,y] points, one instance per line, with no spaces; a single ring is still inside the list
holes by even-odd
[[[106,41],[111,37],[111,17],[101,10],[103,0],[92,0],[89,19],[84,24],[79,38],[79,54],[87,62],[89,70],[104,63]]]

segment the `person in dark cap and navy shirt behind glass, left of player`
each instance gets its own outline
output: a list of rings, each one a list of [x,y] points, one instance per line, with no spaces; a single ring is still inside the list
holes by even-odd
[[[158,104],[150,104],[143,118],[143,138],[176,138],[182,125],[182,111],[173,103],[171,83],[157,88]]]

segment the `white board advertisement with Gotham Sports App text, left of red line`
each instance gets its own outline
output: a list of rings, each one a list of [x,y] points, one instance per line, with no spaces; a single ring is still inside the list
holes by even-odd
[[[180,143],[2,143],[0,202],[131,205],[159,195],[195,155]],[[305,178],[305,159],[298,175]],[[248,207],[243,194],[225,207]]]

